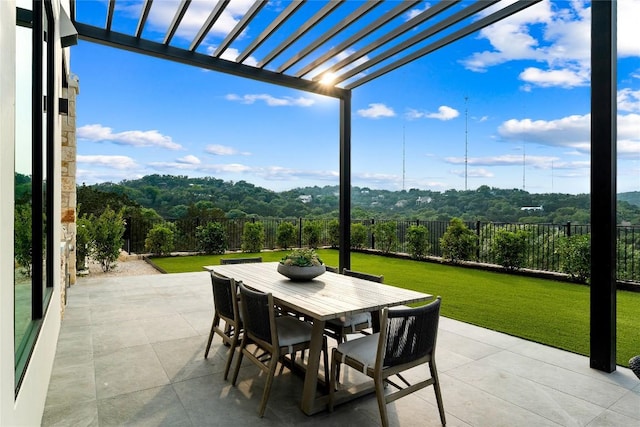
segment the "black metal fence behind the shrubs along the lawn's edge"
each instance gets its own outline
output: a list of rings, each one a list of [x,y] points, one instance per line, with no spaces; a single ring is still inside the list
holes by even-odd
[[[226,231],[229,250],[241,250],[242,233],[244,224],[247,222],[259,221],[263,224],[265,231],[264,249],[275,249],[278,247],[276,236],[278,226],[283,222],[290,222],[297,229],[297,243],[295,246],[303,247],[307,245],[303,233],[304,225],[313,221],[321,229],[321,239],[319,246],[328,247],[335,245],[335,237],[332,239],[332,223],[335,229],[336,220],[326,219],[216,219],[222,224]],[[145,252],[145,238],[154,224],[163,221],[127,219],[125,232],[125,250],[133,253]],[[176,236],[174,238],[177,252],[194,252],[197,250],[196,229],[204,225],[205,221],[200,219],[189,220],[167,220],[172,223]],[[423,225],[428,230],[429,251],[428,254],[441,257],[440,239],[444,235],[449,223],[447,221],[420,221],[420,220],[353,220],[352,224],[360,223],[366,227],[367,240],[365,248],[377,249],[375,234],[373,232],[376,223],[393,222],[396,227],[397,243],[394,252],[409,253],[407,245],[407,232],[411,226]],[[560,271],[560,258],[557,252],[561,238],[578,234],[588,234],[591,225],[566,224],[516,224],[516,223],[487,223],[487,222],[466,222],[465,225],[476,233],[478,237],[478,247],[475,260],[483,263],[494,264],[494,255],[491,251],[493,240],[498,230],[527,231],[527,253],[525,255],[526,268],[542,271]],[[333,240],[333,242],[332,242]],[[332,245],[333,243],[333,245]],[[617,227],[617,278],[623,281],[640,282],[640,226],[618,226]]]

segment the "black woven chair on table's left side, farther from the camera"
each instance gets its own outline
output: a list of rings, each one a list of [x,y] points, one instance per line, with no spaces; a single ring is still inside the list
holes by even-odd
[[[229,375],[231,360],[242,332],[242,320],[238,306],[238,288],[235,280],[219,276],[214,272],[211,272],[211,287],[213,288],[214,313],[204,357],[206,359],[209,356],[213,334],[220,335],[224,344],[229,346],[227,363],[224,367],[224,379],[226,380]],[[224,329],[220,327],[220,320],[224,320]]]

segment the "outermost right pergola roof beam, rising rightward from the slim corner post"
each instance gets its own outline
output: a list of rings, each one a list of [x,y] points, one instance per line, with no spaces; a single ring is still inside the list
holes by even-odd
[[[394,61],[370,74],[367,74],[366,76],[360,78],[357,81],[354,81],[348,85],[345,86],[346,89],[354,89],[358,86],[363,85],[364,83],[367,83],[373,79],[376,79],[378,77],[381,77],[399,67],[402,67],[403,65],[408,64],[409,62],[415,61],[416,59],[422,58],[423,56],[434,52],[438,49],[440,49],[441,47],[444,47],[448,44],[451,44],[457,40],[460,40],[461,38],[464,38],[466,36],[468,36],[471,33],[474,33],[484,27],[488,27],[491,24],[494,24],[498,21],[500,21],[501,19],[506,18],[507,16],[513,15],[516,12],[519,12],[523,9],[526,9],[530,6],[533,6],[536,3],[539,3],[541,0],[520,0],[517,3],[513,3],[510,4],[509,6],[505,7],[504,9],[500,9],[497,12],[492,13],[489,16],[485,16],[482,19],[479,19],[478,21],[459,29],[458,31],[455,31],[454,33],[451,33],[445,37],[443,37],[442,39],[431,43],[430,45],[427,45],[423,48],[420,48],[416,51],[414,51],[413,53],[398,59],[397,61]],[[373,60],[369,61],[369,65],[368,68],[372,67],[373,65]],[[359,68],[359,67],[357,67]],[[348,75],[349,77],[354,76],[355,74],[353,73],[353,70],[348,71],[347,73],[345,73],[345,75]],[[347,78],[349,78],[347,77]],[[340,81],[346,80],[346,78],[344,78],[344,75],[341,75],[338,79],[334,80],[334,83],[337,84]]]

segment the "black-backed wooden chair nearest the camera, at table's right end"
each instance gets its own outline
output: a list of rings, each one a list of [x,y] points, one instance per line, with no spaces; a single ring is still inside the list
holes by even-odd
[[[387,404],[409,393],[433,385],[440,421],[446,424],[440,382],[436,370],[435,350],[440,316],[440,297],[418,308],[382,310],[379,333],[346,341],[333,349],[331,355],[331,382],[329,410],[333,411],[338,367],[344,363],[373,378],[382,425],[388,426]],[[421,364],[429,364],[431,376],[410,384],[401,373]],[[404,385],[389,380],[397,376]],[[385,384],[395,387],[385,394]]]

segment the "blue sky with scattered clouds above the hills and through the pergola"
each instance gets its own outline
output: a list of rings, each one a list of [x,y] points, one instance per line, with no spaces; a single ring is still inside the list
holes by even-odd
[[[215,50],[250,3],[232,0],[203,49]],[[150,31],[162,37],[177,4],[154,2]],[[174,44],[188,45],[208,14],[192,5]],[[102,25],[106,2],[95,6],[79,19]],[[543,1],[356,88],[353,185],[464,190],[466,147],[470,190],[588,193],[589,6]],[[139,7],[118,1],[116,16],[135,22]],[[640,190],[638,22],[640,0],[618,0],[619,192]],[[80,81],[79,183],[157,173],[276,191],[338,184],[335,99],[84,41],[72,48],[71,69]]]

